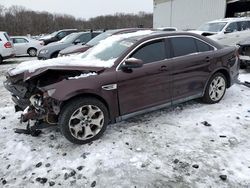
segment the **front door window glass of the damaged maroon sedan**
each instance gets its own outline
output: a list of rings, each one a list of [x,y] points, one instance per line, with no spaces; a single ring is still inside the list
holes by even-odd
[[[165,49],[164,41],[154,41],[143,45],[130,57],[141,59],[144,63],[161,61],[167,58]]]

